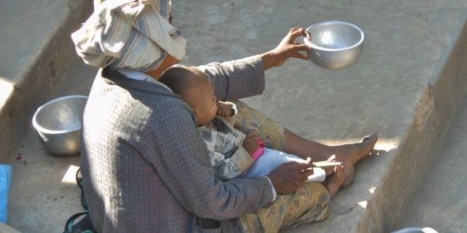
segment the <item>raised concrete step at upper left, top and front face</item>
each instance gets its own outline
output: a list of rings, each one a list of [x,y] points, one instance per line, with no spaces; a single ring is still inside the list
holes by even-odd
[[[70,33],[91,11],[85,0],[0,1],[0,162],[63,81],[76,56]]]

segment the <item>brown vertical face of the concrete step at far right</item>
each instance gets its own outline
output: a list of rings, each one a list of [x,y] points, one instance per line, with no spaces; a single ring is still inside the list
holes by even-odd
[[[410,206],[411,196],[417,189],[427,168],[432,162],[434,150],[449,129],[451,121],[459,111],[459,105],[467,92],[467,18],[459,29],[453,32],[456,38],[442,55],[434,75],[430,78],[425,95],[417,105],[413,127],[400,146],[400,160],[391,166],[392,175],[388,177],[386,191],[391,185],[405,187],[396,201],[386,203],[389,216],[393,217],[383,229],[397,227],[402,213]],[[414,160],[413,156],[417,155]],[[405,171],[405,172],[404,172]],[[407,174],[410,171],[411,174]],[[386,184],[386,180],[385,184]],[[388,228],[390,227],[390,228]]]

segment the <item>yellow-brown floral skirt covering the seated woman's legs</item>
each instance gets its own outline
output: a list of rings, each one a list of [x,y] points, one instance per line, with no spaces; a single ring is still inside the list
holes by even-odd
[[[243,102],[234,102],[238,109],[235,128],[248,134],[256,131],[266,148],[285,149],[284,128]],[[243,232],[278,232],[279,229],[307,225],[329,215],[330,196],[321,183],[306,182],[295,193],[277,195],[270,205],[255,213],[243,215]]]

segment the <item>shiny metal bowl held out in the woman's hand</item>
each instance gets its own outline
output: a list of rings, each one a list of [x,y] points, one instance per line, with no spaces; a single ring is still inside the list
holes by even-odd
[[[306,29],[311,37],[304,43],[312,49],[310,60],[323,68],[340,69],[352,66],[363,50],[364,33],[356,25],[342,21],[323,21]]]

